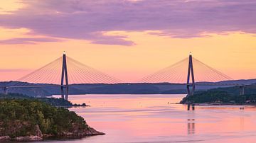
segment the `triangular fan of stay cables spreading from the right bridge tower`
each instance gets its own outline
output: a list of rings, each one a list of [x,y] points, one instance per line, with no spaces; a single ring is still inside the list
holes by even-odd
[[[188,70],[188,68],[190,68],[190,70]],[[190,80],[193,78],[197,83],[205,81],[217,82],[232,80],[230,76],[209,67],[207,64],[200,62],[198,59],[190,55],[189,57],[182,59],[169,67],[156,71],[154,74],[142,78],[139,82],[170,82],[183,84],[188,80],[189,72],[191,72]]]

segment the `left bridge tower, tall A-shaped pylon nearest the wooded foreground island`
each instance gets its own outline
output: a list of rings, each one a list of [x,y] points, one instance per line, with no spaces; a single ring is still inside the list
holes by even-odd
[[[65,85],[64,85],[64,78],[65,78]],[[65,88],[65,92],[64,92],[64,88]],[[65,51],[63,53],[63,68],[61,72],[60,92],[61,92],[61,98],[68,100],[68,68],[67,68]]]

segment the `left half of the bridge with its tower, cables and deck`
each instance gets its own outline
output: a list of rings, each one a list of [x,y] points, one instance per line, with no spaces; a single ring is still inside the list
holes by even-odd
[[[66,56],[65,52],[63,57],[55,59],[53,62],[36,69],[17,81],[21,82],[11,86],[4,86],[4,93],[7,94],[9,88],[60,87],[60,94],[66,100],[68,100],[69,86],[74,86],[74,84],[123,83],[122,80]]]

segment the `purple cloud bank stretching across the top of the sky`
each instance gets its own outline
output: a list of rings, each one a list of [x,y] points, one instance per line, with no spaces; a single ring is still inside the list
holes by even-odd
[[[105,45],[134,45],[125,36],[104,35],[112,30],[146,31],[173,38],[206,33],[256,33],[256,1],[229,0],[22,0],[26,7],[0,15],[0,26],[28,28],[53,38],[90,40]],[[4,43],[48,42],[14,39]],[[3,43],[3,41],[2,41]]]

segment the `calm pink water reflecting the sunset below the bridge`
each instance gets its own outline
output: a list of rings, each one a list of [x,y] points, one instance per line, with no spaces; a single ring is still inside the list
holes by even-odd
[[[47,142],[256,142],[256,107],[175,104],[184,95],[80,95],[70,108],[106,135]]]

